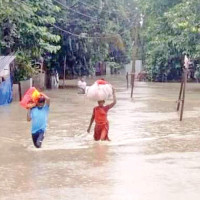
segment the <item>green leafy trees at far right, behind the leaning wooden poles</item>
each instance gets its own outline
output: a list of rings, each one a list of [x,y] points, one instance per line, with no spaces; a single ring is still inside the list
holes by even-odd
[[[150,78],[177,80],[185,54],[189,54],[195,66],[199,62],[200,2],[141,0],[140,3],[144,60]]]

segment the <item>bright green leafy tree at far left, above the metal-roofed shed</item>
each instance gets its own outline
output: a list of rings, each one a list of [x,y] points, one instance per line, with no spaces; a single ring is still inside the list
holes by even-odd
[[[17,54],[16,79],[26,79],[34,72],[32,60],[60,49],[56,44],[60,36],[49,26],[55,23],[52,13],[59,7],[51,0],[1,0],[0,4],[0,53]]]

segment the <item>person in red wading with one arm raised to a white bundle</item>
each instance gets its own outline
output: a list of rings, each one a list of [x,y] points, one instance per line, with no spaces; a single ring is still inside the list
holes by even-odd
[[[96,141],[98,140],[110,141],[108,137],[109,122],[107,119],[107,112],[117,102],[114,88],[112,88],[112,90],[113,90],[113,102],[107,106],[104,106],[105,100],[100,100],[98,101],[98,106],[93,109],[93,114],[87,132],[90,133],[91,126],[95,121],[94,140]]]

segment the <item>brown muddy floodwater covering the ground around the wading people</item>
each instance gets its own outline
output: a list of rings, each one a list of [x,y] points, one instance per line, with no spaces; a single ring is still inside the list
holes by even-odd
[[[49,126],[35,149],[26,112],[0,107],[1,200],[199,200],[200,85],[188,84],[184,121],[175,112],[180,84],[112,77],[117,105],[111,142],[94,142],[87,126],[95,102],[77,90],[46,91]]]

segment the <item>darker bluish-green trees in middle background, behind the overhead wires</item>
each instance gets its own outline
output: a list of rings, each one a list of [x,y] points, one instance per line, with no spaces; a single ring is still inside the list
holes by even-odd
[[[94,73],[99,61],[121,65],[130,61],[133,1],[132,10],[130,5],[115,0],[55,2],[62,9],[56,24],[62,27],[57,32],[62,38],[61,50],[50,56],[49,66],[56,66],[62,73],[66,56],[67,74],[77,76]]]

